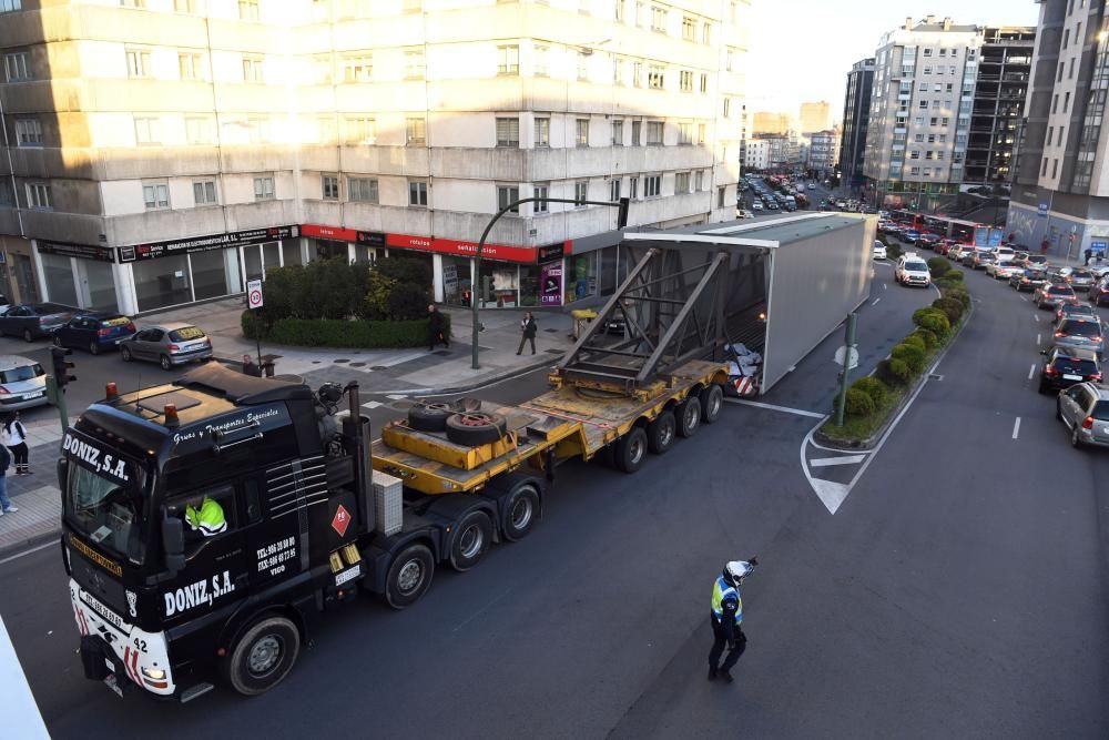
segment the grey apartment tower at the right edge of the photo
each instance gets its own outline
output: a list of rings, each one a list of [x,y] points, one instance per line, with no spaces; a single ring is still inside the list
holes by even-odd
[[[1044,0],[1006,229],[1080,259],[1109,243],[1109,20],[1103,2]]]

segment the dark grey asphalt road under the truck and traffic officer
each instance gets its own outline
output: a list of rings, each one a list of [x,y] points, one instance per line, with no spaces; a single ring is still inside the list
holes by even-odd
[[[562,466],[527,540],[437,572],[405,612],[328,615],[255,699],[120,701],[83,679],[53,547],[0,564],[0,612],[55,738],[1109,737],[1109,457],[1072,450],[1027,379],[1047,314],[968,282],[980,303],[943,381],[835,516],[798,457],[816,419],[733,404],[634,476]],[[878,291],[864,356],[907,331],[883,305],[933,297]],[[761,401],[826,409],[828,365],[822,345]],[[708,682],[712,580],[755,553],[747,652],[735,683]]]

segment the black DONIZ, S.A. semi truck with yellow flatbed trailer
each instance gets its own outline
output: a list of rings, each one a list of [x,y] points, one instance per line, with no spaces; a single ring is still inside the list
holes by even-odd
[[[58,463],[84,675],[181,702],[217,680],[265,692],[327,611],[363,591],[410,607],[437,568],[525,538],[560,464],[634,473],[716,420],[729,256],[674,259],[647,251],[602,312],[625,332],[589,325],[549,392],[417,403],[374,442],[355,383],[208,363],[134,393],[109,384]]]

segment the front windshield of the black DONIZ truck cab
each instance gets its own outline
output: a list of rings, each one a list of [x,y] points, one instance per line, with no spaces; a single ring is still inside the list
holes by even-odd
[[[120,558],[141,564],[146,506],[139,466],[124,463],[126,480],[94,473],[70,458],[65,520],[79,534]],[[120,468],[116,468],[119,470]]]

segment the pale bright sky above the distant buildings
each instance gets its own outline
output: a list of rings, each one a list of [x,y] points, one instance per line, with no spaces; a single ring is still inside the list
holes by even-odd
[[[797,114],[826,100],[843,115],[851,65],[873,57],[878,40],[912,16],[957,24],[1036,26],[1032,0],[752,0],[747,111]]]

